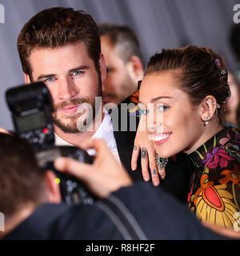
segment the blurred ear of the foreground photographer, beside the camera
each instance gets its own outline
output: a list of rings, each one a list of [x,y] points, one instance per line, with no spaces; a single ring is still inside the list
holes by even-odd
[[[57,176],[53,171],[47,170],[45,174],[45,182],[48,188],[48,202],[60,203],[62,201]]]

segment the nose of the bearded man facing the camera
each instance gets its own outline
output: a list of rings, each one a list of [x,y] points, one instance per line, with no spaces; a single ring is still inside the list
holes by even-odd
[[[68,100],[78,95],[79,91],[70,78],[62,79],[58,83],[58,99]]]

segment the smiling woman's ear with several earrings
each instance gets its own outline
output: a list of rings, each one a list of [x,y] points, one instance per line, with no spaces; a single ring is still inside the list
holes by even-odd
[[[217,101],[212,95],[207,95],[201,103],[201,117],[202,121],[206,121],[207,118],[213,118],[217,108]]]

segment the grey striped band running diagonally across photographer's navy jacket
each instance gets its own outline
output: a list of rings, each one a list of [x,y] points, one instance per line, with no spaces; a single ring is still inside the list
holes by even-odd
[[[96,202],[96,205],[114,222],[124,239],[147,240],[146,234],[144,234],[133,214],[114,195],[111,194],[101,202]]]

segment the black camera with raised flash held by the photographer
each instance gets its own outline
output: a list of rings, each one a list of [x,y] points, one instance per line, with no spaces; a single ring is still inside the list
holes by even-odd
[[[18,136],[30,142],[38,165],[44,170],[53,170],[59,183],[62,202],[92,204],[94,195],[83,182],[55,170],[53,162],[59,156],[92,163],[86,151],[75,146],[55,146],[52,123],[53,102],[50,91],[43,82],[17,86],[6,91],[6,102],[12,114],[14,129]]]

